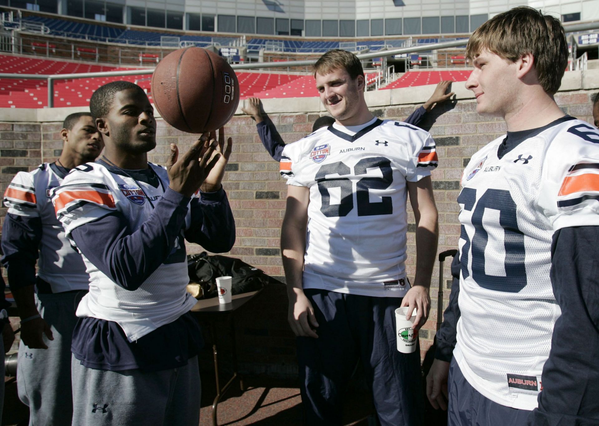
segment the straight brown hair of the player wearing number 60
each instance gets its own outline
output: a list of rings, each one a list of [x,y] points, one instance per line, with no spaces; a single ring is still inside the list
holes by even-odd
[[[543,90],[557,92],[568,65],[568,42],[558,19],[528,6],[500,13],[479,26],[466,46],[470,60],[483,50],[515,62],[531,53]]]

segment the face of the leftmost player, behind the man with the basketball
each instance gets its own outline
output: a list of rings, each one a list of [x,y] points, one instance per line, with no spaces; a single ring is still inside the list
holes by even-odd
[[[71,129],[62,129],[60,135],[65,141],[64,150],[78,164],[94,161],[104,149],[102,135],[90,116],[81,116]]]

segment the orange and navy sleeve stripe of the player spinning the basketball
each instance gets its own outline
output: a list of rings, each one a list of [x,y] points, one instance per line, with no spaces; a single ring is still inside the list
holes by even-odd
[[[72,212],[84,204],[96,204],[105,209],[114,210],[114,198],[108,186],[102,183],[85,183],[60,186],[52,197],[54,209],[58,216]]]

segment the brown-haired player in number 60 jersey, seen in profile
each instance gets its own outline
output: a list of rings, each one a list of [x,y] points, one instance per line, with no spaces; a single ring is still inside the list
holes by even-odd
[[[564,28],[514,8],[473,33],[467,56],[477,111],[507,134],[462,177],[457,344],[451,363],[435,360],[429,400],[444,404],[449,371],[451,425],[599,424],[599,132],[553,99]]]

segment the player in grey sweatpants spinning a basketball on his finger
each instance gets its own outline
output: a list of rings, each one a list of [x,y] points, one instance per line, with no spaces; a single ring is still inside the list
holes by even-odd
[[[208,134],[167,167],[147,161],[156,120],[137,84],[114,81],[90,101],[105,155],[53,191],[90,289],[72,339],[73,425],[193,425],[199,421],[198,322],[184,239],[227,252],[235,223],[220,184],[229,138]]]

